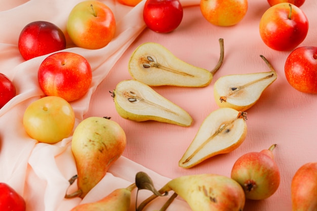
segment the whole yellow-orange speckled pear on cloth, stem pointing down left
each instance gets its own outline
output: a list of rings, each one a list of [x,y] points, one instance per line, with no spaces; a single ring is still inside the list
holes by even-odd
[[[106,175],[110,165],[122,155],[125,147],[126,134],[117,122],[105,117],[88,117],[80,122],[71,142],[78,190],[65,197],[84,198]]]

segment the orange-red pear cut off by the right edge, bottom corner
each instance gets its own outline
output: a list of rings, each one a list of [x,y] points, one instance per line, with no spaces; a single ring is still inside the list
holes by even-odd
[[[317,210],[317,162],[309,162],[298,168],[291,185],[292,210]]]

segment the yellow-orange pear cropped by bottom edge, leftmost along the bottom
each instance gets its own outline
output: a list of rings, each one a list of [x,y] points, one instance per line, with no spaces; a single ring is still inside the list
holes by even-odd
[[[127,188],[115,189],[99,201],[77,205],[70,211],[128,211],[131,203],[131,191],[135,187],[136,185],[133,183]]]

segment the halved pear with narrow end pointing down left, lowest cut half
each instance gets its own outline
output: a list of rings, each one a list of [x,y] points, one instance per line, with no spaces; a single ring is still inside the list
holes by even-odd
[[[232,108],[219,108],[211,112],[178,165],[190,168],[212,156],[229,153],[239,147],[247,135],[246,119],[245,112]]]

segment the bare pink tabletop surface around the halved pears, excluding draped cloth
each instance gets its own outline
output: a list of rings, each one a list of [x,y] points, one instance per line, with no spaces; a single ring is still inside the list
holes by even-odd
[[[315,6],[307,1],[302,10],[307,13]],[[273,153],[281,171],[281,185],[270,198],[247,201],[245,210],[290,210],[291,179],[297,168],[305,162],[317,161],[316,96],[294,90],[284,74],[284,63],[290,52],[278,52],[264,45],[258,30],[261,14],[268,8],[266,1],[250,1],[246,17],[234,27],[217,27],[208,23],[199,7],[184,10],[181,25],[169,34],[158,34],[149,29],[135,40],[122,58],[111,69],[94,93],[87,116],[111,116],[120,122],[128,137],[124,153],[151,170],[169,178],[182,175],[215,173],[230,176],[235,160],[244,153],[261,151],[277,144]],[[311,14],[310,28],[300,46],[315,45],[316,26]],[[206,88],[153,88],[164,97],[184,108],[193,118],[189,128],[156,122],[131,122],[115,112],[108,91],[116,83],[132,78],[128,62],[132,52],[146,41],[159,43],[178,58],[195,66],[212,69],[218,61],[218,38],[224,38],[224,63]],[[213,98],[213,83],[223,75],[269,71],[259,57],[264,55],[278,73],[276,79],[260,100],[247,110],[248,134],[245,142],[229,154],[212,157],[189,170],[178,166],[178,161],[189,146],[204,118],[217,105]]]

